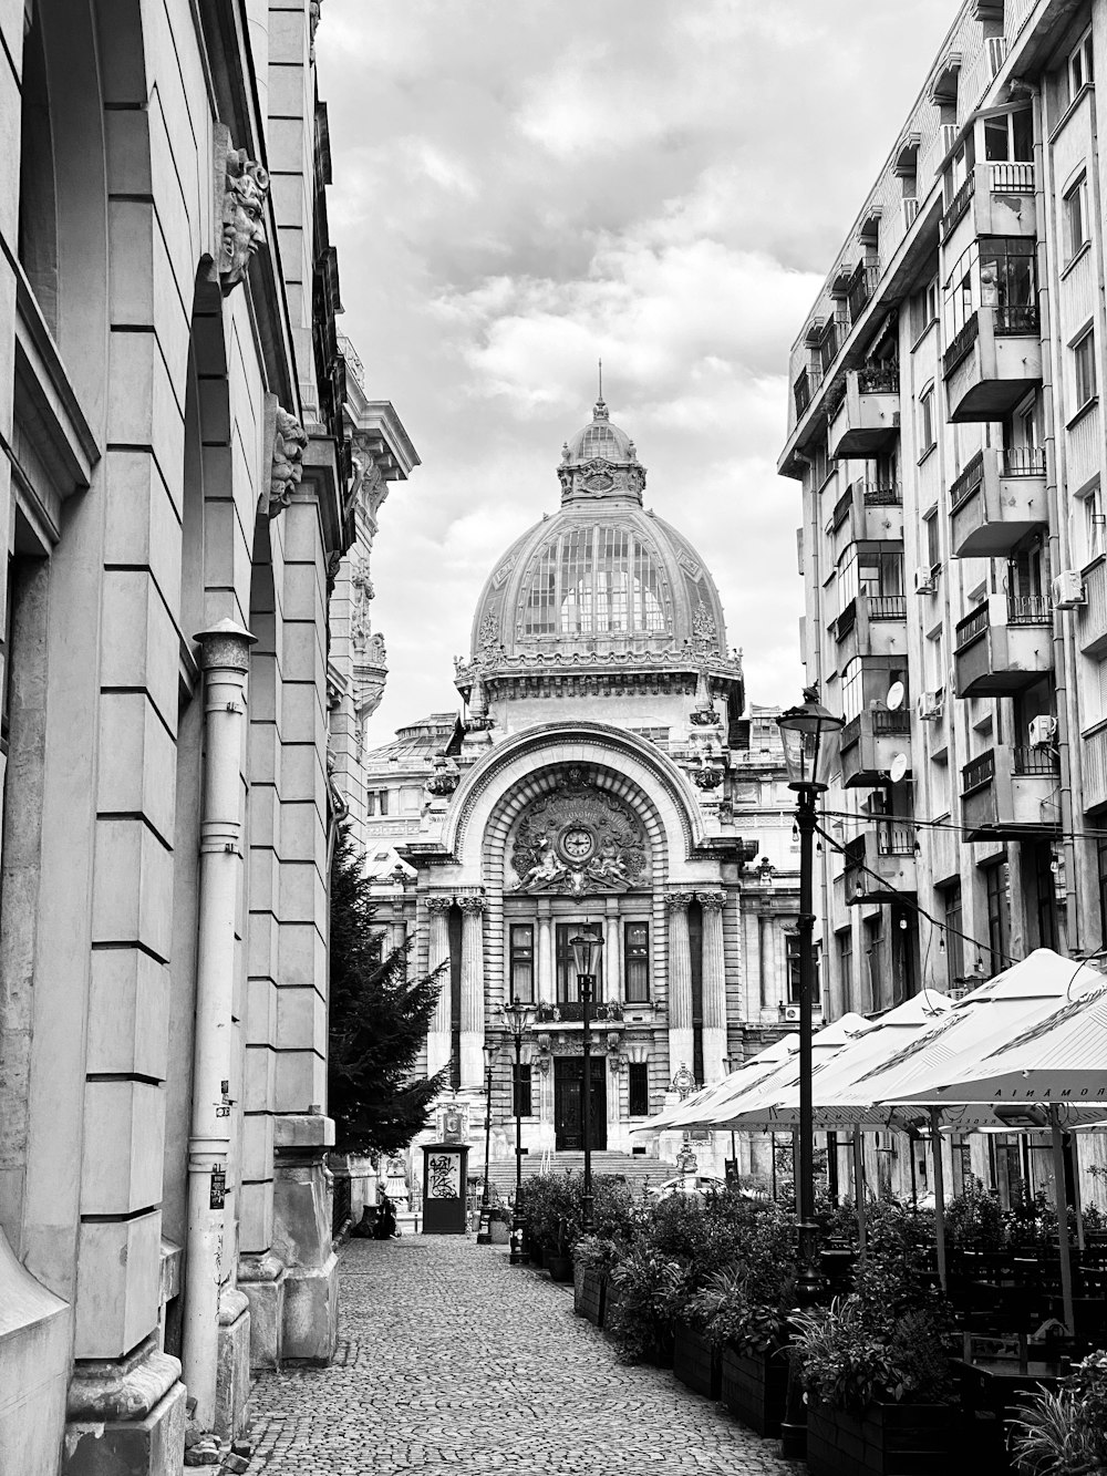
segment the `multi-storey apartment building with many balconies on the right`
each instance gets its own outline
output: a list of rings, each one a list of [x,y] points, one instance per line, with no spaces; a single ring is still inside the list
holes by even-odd
[[[828,1014],[1104,946],[1107,3],[970,0],[790,365]]]

